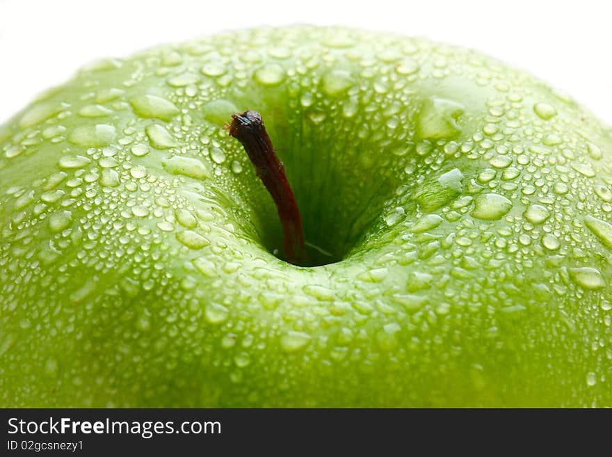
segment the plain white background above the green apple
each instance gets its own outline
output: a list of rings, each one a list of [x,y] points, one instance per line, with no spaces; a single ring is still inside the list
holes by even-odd
[[[612,124],[609,1],[0,0],[0,122],[98,57],[257,25],[341,24],[480,49]]]

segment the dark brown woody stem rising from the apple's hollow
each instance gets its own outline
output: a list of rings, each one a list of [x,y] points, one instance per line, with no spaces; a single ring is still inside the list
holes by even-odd
[[[303,264],[307,256],[300,209],[261,115],[251,110],[232,114],[232,123],[224,128],[230,131],[230,136],[242,143],[255,166],[257,176],[272,195],[284,232],[284,255],[287,262]]]

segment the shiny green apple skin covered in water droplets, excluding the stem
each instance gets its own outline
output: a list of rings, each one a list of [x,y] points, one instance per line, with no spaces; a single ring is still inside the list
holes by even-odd
[[[339,262],[271,254],[222,128],[244,109]],[[0,129],[0,405],[612,406],[611,136],[525,72],[384,33],[89,65]]]

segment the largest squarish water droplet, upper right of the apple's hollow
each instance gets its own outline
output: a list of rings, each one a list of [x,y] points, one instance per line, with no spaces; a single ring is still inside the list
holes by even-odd
[[[421,138],[449,138],[460,133],[457,125],[459,116],[464,112],[462,104],[451,100],[430,97],[426,99],[417,124]]]

